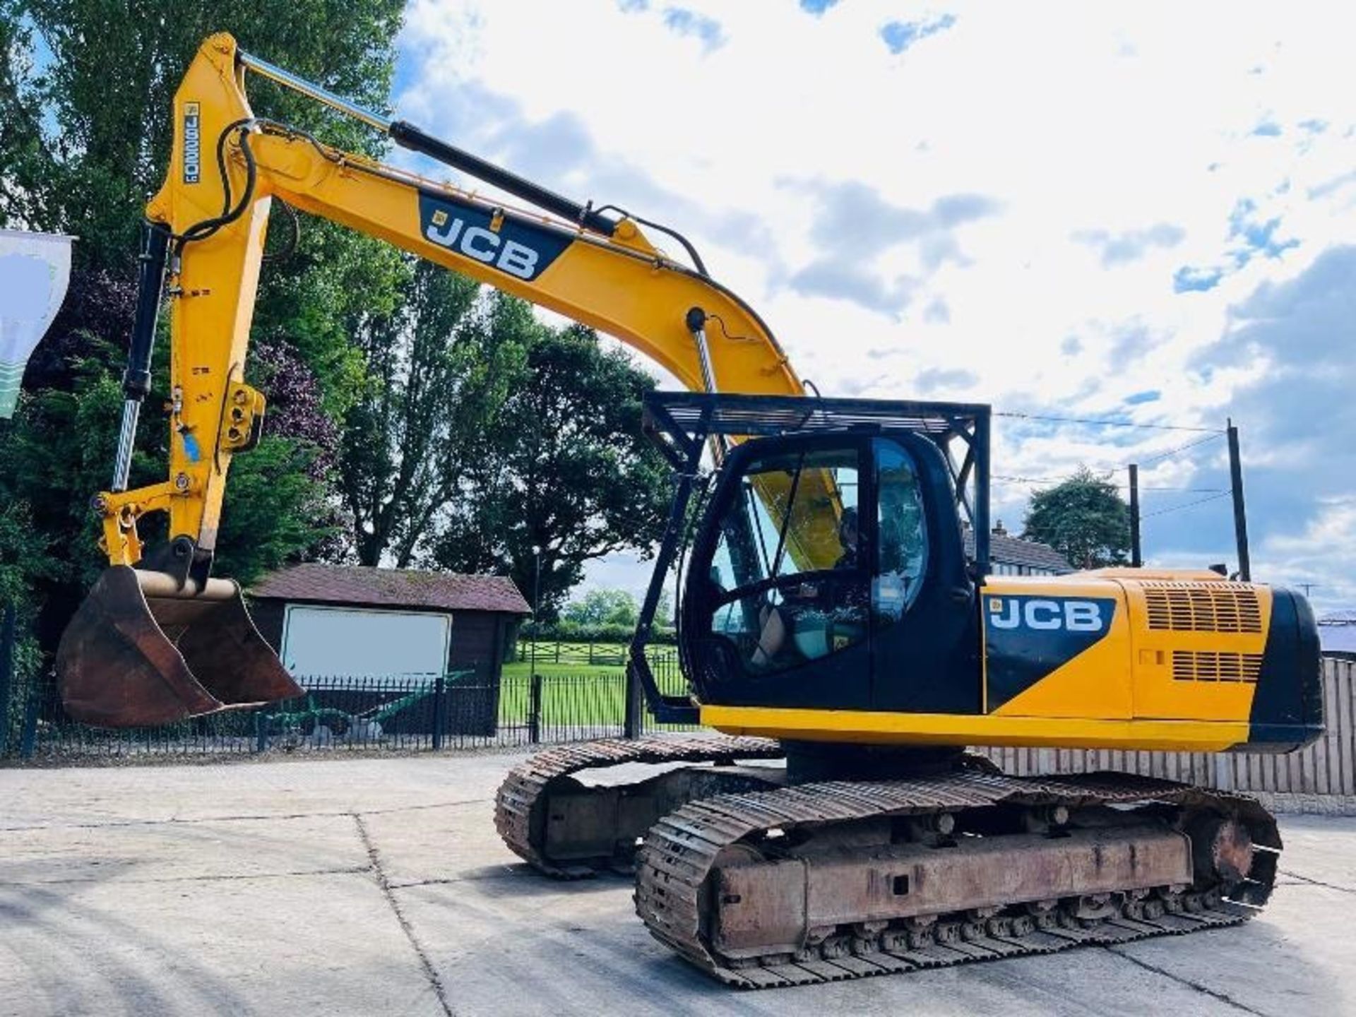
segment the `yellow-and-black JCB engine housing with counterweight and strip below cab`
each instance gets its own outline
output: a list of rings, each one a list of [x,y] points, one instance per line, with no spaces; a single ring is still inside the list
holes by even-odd
[[[1290,751],[1322,735],[1317,631],[1288,590],[1214,574],[991,578],[978,713],[702,705],[727,734],[877,744]]]

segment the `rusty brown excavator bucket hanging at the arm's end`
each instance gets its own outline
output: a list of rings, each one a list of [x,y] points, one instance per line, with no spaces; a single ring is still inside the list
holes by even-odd
[[[114,565],[57,650],[66,713],[98,727],[168,724],[301,696],[250,620],[240,587],[180,590],[164,572]]]

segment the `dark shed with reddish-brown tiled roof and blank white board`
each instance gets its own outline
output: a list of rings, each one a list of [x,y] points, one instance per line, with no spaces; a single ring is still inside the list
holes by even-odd
[[[300,677],[475,667],[498,685],[504,648],[530,614],[507,576],[304,564],[248,593],[259,633]]]

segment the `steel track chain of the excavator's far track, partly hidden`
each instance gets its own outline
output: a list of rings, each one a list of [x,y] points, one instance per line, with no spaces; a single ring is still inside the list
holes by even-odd
[[[778,759],[781,746],[766,738],[637,738],[580,742],[537,753],[504,777],[495,795],[495,829],[519,858],[557,879],[579,873],[542,853],[544,808],[553,786],[580,770],[625,763],[732,763],[738,759]]]

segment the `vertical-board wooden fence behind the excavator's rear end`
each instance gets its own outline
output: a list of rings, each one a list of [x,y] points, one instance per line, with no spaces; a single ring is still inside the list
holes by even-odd
[[[1299,753],[982,749],[1017,776],[1120,770],[1220,791],[1356,795],[1356,662],[1323,658],[1326,732]]]

